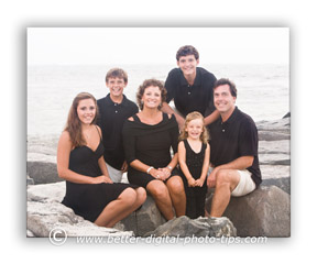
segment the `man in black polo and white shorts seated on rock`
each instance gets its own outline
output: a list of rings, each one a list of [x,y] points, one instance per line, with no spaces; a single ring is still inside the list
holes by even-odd
[[[221,217],[231,196],[244,196],[262,182],[258,158],[258,129],[254,121],[236,107],[237,89],[228,79],[214,88],[220,118],[210,129],[210,161],[207,179],[215,187],[210,217]]]

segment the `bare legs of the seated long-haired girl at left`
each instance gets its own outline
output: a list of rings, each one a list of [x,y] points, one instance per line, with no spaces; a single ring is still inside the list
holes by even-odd
[[[112,228],[117,222],[136,210],[146,198],[143,188],[127,188],[117,200],[109,202],[99,215],[95,223],[100,227]]]

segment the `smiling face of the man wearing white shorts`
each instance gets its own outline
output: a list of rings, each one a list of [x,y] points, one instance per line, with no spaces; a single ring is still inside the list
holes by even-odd
[[[230,92],[229,85],[220,85],[214,89],[215,107],[226,118],[233,112],[236,99]]]

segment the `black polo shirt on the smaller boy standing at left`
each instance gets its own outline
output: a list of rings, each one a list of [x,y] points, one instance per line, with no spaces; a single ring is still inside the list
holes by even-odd
[[[121,103],[113,102],[110,94],[97,101],[98,119],[97,124],[102,131],[102,143],[105,146],[105,161],[112,167],[120,169],[124,162],[122,143],[123,122],[139,112],[138,106],[127,99],[123,95]]]

